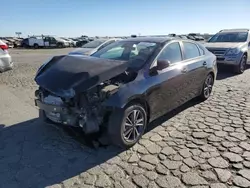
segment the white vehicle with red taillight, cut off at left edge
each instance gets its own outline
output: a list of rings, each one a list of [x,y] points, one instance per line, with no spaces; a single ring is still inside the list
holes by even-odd
[[[13,62],[8,52],[8,45],[0,40],[0,72],[10,70],[12,67]]]

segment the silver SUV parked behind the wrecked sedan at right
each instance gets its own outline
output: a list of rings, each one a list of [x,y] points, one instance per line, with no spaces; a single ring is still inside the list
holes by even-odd
[[[205,46],[216,55],[218,65],[232,65],[239,74],[244,72],[250,61],[249,29],[221,30]]]

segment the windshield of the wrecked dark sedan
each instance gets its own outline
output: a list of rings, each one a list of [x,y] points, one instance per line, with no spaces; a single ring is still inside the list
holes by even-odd
[[[157,48],[157,43],[118,41],[97,51],[92,56],[130,62],[131,68],[141,67]]]

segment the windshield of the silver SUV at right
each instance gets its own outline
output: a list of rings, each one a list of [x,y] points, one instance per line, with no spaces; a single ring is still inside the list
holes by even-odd
[[[248,33],[218,33],[214,35],[208,42],[246,42]]]

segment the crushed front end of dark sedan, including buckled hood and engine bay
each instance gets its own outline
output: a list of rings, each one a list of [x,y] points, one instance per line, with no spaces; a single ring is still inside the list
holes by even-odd
[[[55,56],[37,71],[35,104],[50,123],[97,132],[111,109],[103,103],[137,74],[128,62],[90,56]]]

